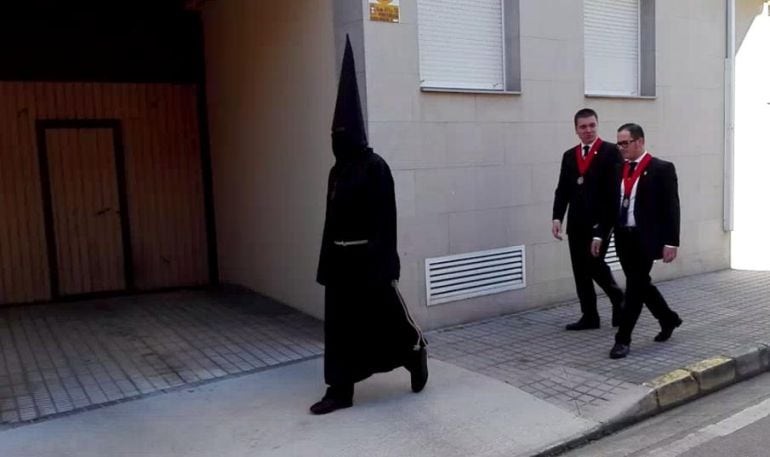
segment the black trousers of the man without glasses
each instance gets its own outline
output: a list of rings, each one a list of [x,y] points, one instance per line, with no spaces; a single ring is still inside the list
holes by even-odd
[[[590,232],[571,231],[567,240],[569,242],[569,254],[572,261],[572,275],[575,278],[575,288],[580,300],[580,311],[583,318],[591,321],[599,321],[599,312],[596,309],[596,290],[594,281],[604,290],[604,293],[612,302],[613,312],[620,312],[623,303],[623,291],[612,277],[610,267],[604,261],[607,254],[607,243],[603,243],[599,257],[591,255],[591,242],[593,235]]]

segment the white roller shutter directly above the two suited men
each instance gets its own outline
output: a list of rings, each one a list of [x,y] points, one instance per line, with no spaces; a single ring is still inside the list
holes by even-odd
[[[584,0],[587,94],[639,95],[639,0]]]

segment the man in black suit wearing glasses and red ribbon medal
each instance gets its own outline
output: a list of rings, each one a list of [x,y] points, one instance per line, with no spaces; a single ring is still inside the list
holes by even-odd
[[[682,325],[679,315],[669,308],[650,278],[652,263],[676,258],[679,246],[679,193],[674,164],[652,157],[645,149],[644,130],[637,124],[618,129],[618,147],[625,159],[618,167],[610,198],[603,205],[601,222],[591,244],[593,255],[601,255],[602,245],[615,229],[615,247],[626,274],[626,303],[622,322],[615,335],[610,358],[628,355],[642,303],[660,323],[655,341],[671,338]]]

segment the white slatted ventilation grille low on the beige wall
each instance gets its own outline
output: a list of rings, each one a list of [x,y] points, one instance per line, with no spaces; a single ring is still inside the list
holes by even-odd
[[[526,287],[524,246],[425,259],[428,306]]]

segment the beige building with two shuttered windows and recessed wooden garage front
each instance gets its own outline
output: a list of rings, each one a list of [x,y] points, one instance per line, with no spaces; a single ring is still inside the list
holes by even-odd
[[[572,115],[583,107],[599,113],[610,141],[619,125],[641,124],[650,152],[677,167],[680,256],[654,275],[730,267],[740,151],[727,147],[729,24],[740,52],[762,0],[160,3],[178,12],[157,27],[141,22],[145,45],[120,48],[133,60],[95,65],[81,52],[72,68],[82,71],[53,72],[53,83],[50,68],[2,74],[3,100],[18,106],[3,111],[0,153],[20,167],[3,171],[3,303],[222,282],[322,317],[315,271],[345,35],[371,146],[396,182],[401,289],[424,327],[575,297],[568,248],[550,225],[561,155],[577,142]],[[145,20],[156,5],[138,4]],[[160,32],[171,24],[174,34]],[[165,46],[147,44],[158,36]],[[129,52],[137,49],[143,58]],[[118,170],[99,181],[106,190],[62,184],[80,176],[81,143]],[[68,148],[82,160],[65,160]],[[9,184],[15,176],[23,179]],[[62,222],[58,214],[81,201],[114,220]],[[84,237],[101,241],[89,247]],[[29,271],[14,267],[28,258]],[[92,280],[105,262],[114,268]]]

